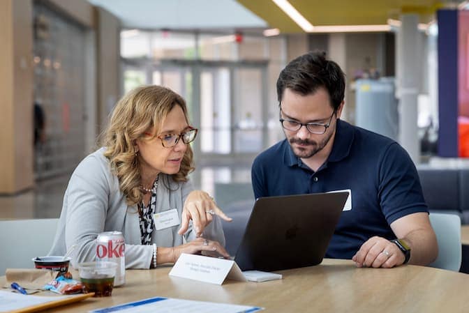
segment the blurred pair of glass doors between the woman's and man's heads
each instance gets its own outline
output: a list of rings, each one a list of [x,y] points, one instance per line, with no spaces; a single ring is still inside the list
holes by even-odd
[[[205,62],[200,77],[201,159],[243,157],[267,146],[267,66]],[[197,83],[197,82],[196,82]],[[197,95],[195,95],[197,97]]]

